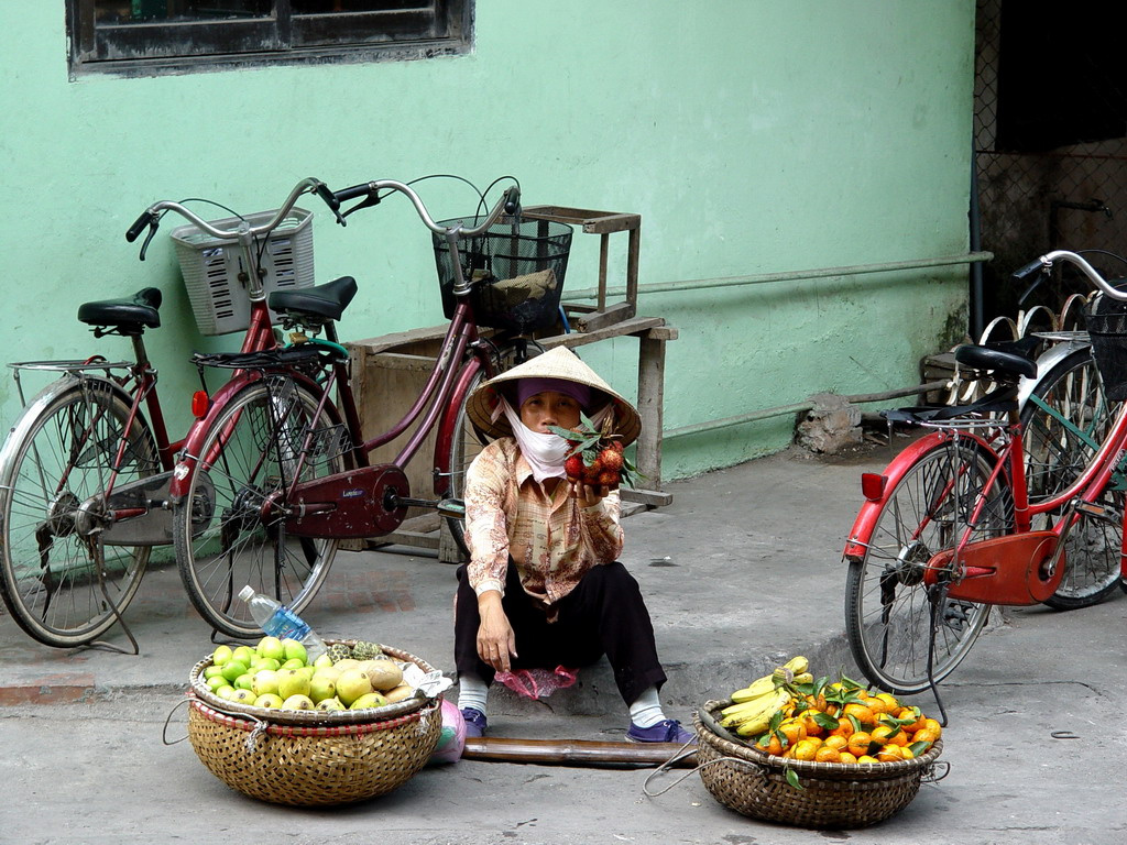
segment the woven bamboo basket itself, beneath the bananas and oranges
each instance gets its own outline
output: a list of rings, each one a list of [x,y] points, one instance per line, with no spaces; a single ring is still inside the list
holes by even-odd
[[[710,701],[713,714],[726,702]],[[816,763],[783,759],[731,742],[694,715],[701,781],[712,797],[736,812],[764,821],[808,828],[866,827],[907,807],[923,779],[933,776],[943,744],[937,740],[926,754],[897,763]],[[786,770],[798,775],[804,789],[787,782]]]

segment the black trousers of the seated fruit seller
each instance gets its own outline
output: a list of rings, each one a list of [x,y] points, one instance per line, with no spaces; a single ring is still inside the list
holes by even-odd
[[[521,587],[516,566],[509,561],[502,606],[516,638],[514,670],[589,666],[606,655],[628,705],[649,687],[660,688],[665,683],[646,602],[638,581],[619,561],[593,567],[557,604],[554,622]],[[463,563],[458,568],[454,664],[459,675],[476,675],[488,685],[496,673],[478,657],[480,622],[478,597]]]

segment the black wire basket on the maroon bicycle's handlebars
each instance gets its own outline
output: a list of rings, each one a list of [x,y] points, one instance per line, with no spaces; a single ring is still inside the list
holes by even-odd
[[[464,217],[440,225],[471,229],[480,222]],[[473,283],[469,297],[478,326],[520,333],[556,326],[570,251],[571,226],[518,216],[503,216],[477,238],[460,241],[459,261],[463,277]],[[443,235],[434,235],[434,257],[449,320],[458,304],[458,274]]]

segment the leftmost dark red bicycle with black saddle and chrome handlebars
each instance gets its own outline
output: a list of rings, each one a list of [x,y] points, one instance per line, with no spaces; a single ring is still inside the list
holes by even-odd
[[[149,228],[145,249],[160,217],[175,212],[220,239],[212,257],[241,261],[249,296],[245,353],[276,344],[260,258],[265,244],[292,225],[291,211],[309,193],[336,202],[323,184],[303,179],[274,214],[257,225],[230,229],[207,223],[180,203],[148,208],[130,228],[134,241]],[[0,595],[14,620],[39,642],[71,648],[95,642],[136,594],[154,546],[172,542],[169,488],[175,455],[157,392],[157,371],[144,332],[160,326],[161,292],[147,287],[124,299],[87,302],[78,319],[95,337],[128,338],[131,361],[101,355],[76,361],[10,364],[24,410],[0,448]],[[247,309],[247,302],[229,299]],[[238,328],[238,327],[236,327]],[[25,399],[23,377],[50,373],[54,381]]]

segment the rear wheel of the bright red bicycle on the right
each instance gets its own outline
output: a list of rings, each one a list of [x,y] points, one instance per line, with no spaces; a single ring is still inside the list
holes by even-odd
[[[850,650],[864,676],[894,695],[924,692],[950,675],[986,624],[991,605],[946,598],[929,678],[931,603],[938,592],[924,581],[925,564],[962,536],[994,460],[968,439],[926,448],[886,493],[871,534],[860,539],[863,554],[849,560]],[[1012,531],[1013,497],[1004,477],[995,479],[986,497],[974,540]]]

